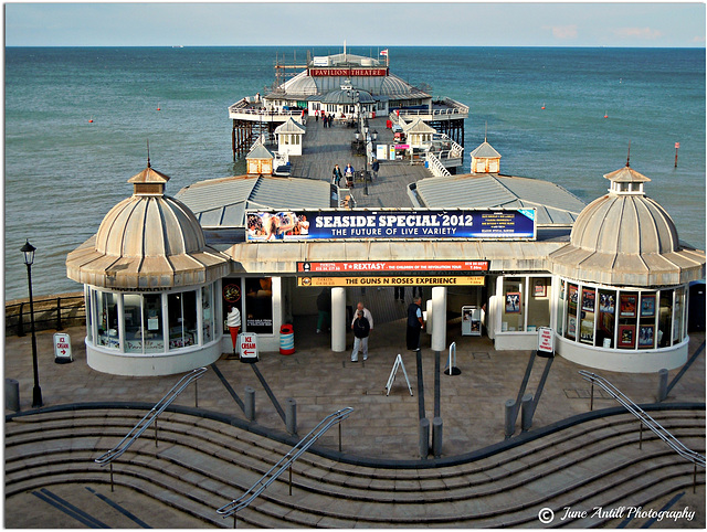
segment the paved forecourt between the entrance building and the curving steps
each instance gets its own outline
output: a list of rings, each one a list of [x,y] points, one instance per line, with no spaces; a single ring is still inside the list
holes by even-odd
[[[53,332],[38,333],[39,376],[45,406],[70,403],[116,401],[152,402],[179,380],[162,377],[127,377],[96,372],[86,364],[83,328],[70,329],[74,362],[54,363]],[[700,349],[704,333],[692,334],[690,354]],[[420,391],[415,353],[404,350],[404,321],[377,324],[370,337],[368,361],[350,362],[352,337],[347,338],[347,352],[330,350],[328,334],[315,333],[315,317],[295,322],[293,355],[262,353],[256,364],[266,386],[284,407],[288,398],[297,403],[298,434],[305,435],[327,414],[345,407],[355,408],[344,424],[347,453],[386,459],[416,459]],[[458,323],[452,322],[447,341],[456,342],[461,375],[440,376],[440,415],[443,419],[443,456],[457,456],[504,440],[504,404],[516,398],[530,352],[495,351],[487,338],[462,337]],[[434,352],[430,337],[422,337],[422,379],[425,416],[434,417]],[[4,375],[20,383],[21,409],[31,409],[32,351],[31,337],[7,337]],[[402,354],[413,395],[410,395],[402,371],[386,394],[395,357]],[[442,353],[441,366],[446,364]],[[285,424],[266,394],[266,389],[250,364],[222,357],[198,383],[199,407],[245,418],[225,383],[244,396],[245,386],[255,389],[256,422],[263,427],[285,432]],[[535,393],[545,359],[537,359],[527,392]],[[579,370],[585,369],[556,358],[538,404],[532,428],[547,426],[590,408],[590,384]],[[657,374],[622,374],[597,371],[634,402],[654,403]],[[669,372],[669,381],[678,370]],[[219,375],[220,374],[220,375]],[[673,387],[666,403],[705,401],[705,352]],[[194,390],[187,389],[176,404],[194,406]],[[611,398],[594,390],[594,409],[615,406]],[[10,412],[6,409],[6,414]],[[519,434],[518,419],[516,435]],[[330,436],[325,445],[338,444]]]

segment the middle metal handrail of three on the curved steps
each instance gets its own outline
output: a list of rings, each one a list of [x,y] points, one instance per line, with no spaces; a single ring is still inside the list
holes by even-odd
[[[309,434],[307,434],[304,438],[299,440],[297,445],[295,445],[285,456],[283,456],[277,464],[268,469],[268,471],[263,475],[251,488],[243,493],[238,499],[232,500],[228,504],[222,506],[217,510],[217,513],[228,518],[229,515],[233,515],[239,510],[243,510],[251,502],[253,502],[265,489],[273,483],[277,477],[279,477],[292,464],[299,458],[309,447],[314,445],[314,443],[319,439],[329,428],[331,428],[335,424],[340,423],[346,419],[354,408],[347,406],[346,408],[341,408],[333,414],[329,414],[327,417],[321,419],[319,424],[314,427]],[[316,433],[316,434],[315,434]]]

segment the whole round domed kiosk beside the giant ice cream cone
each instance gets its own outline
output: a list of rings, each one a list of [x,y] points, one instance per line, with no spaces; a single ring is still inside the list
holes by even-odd
[[[229,258],[205,244],[183,203],[163,194],[169,178],[150,167],[128,180],[130,198],[66,257],[84,284],[86,359],[119,375],[167,375],[221,355],[221,278]]]

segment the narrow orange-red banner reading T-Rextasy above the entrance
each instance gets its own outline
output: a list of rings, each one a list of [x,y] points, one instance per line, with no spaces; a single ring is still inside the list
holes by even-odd
[[[339,260],[297,263],[305,274],[346,274],[352,272],[488,272],[488,260]]]

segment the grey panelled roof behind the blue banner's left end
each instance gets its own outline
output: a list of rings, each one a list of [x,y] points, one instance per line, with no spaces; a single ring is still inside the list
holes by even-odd
[[[177,195],[202,227],[245,227],[246,209],[329,209],[327,181],[236,175],[200,181]]]

